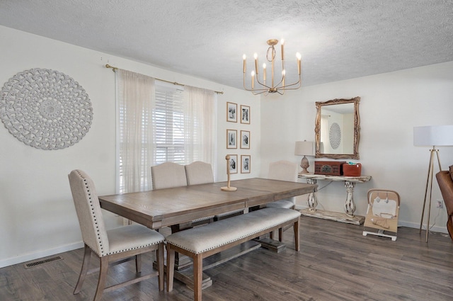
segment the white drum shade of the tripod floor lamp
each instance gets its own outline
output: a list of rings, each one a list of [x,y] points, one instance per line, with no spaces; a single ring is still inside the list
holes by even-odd
[[[413,145],[415,147],[453,146],[453,125],[430,125],[413,128]]]

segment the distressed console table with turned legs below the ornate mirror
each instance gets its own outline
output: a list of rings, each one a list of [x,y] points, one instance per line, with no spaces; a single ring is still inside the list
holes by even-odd
[[[336,220],[337,222],[347,222],[354,225],[362,225],[365,217],[354,215],[354,186],[355,183],[365,183],[371,180],[371,176],[327,176],[323,174],[299,174],[299,178],[305,178],[306,183],[316,184],[318,180],[322,181],[344,181],[346,188],[346,202],[345,213],[331,212],[327,210],[318,210],[318,200],[316,199],[316,192],[309,193],[307,203],[309,208],[301,210],[302,215],[319,217],[326,220]]]

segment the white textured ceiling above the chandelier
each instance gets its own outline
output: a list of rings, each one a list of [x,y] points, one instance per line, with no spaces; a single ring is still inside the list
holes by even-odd
[[[453,0],[1,0],[0,25],[237,88],[270,38],[304,86],[453,61]]]

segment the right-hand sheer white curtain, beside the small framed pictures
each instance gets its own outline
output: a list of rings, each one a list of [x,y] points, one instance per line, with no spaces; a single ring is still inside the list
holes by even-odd
[[[204,161],[214,167],[214,91],[185,86],[183,97],[185,163]]]

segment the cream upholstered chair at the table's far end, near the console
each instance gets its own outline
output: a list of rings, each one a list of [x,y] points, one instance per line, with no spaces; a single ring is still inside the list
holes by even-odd
[[[268,178],[271,180],[280,180],[280,181],[289,181],[297,182],[297,169],[298,165],[285,160],[271,162],[269,164],[269,173]],[[295,209],[296,208],[296,198],[285,198],[283,200],[277,200],[272,203],[267,203],[266,207],[268,208],[286,208],[286,209]],[[285,229],[288,229],[286,227]],[[285,229],[279,229],[278,240],[282,242],[283,231]],[[270,233],[270,239],[273,239],[273,232]]]

